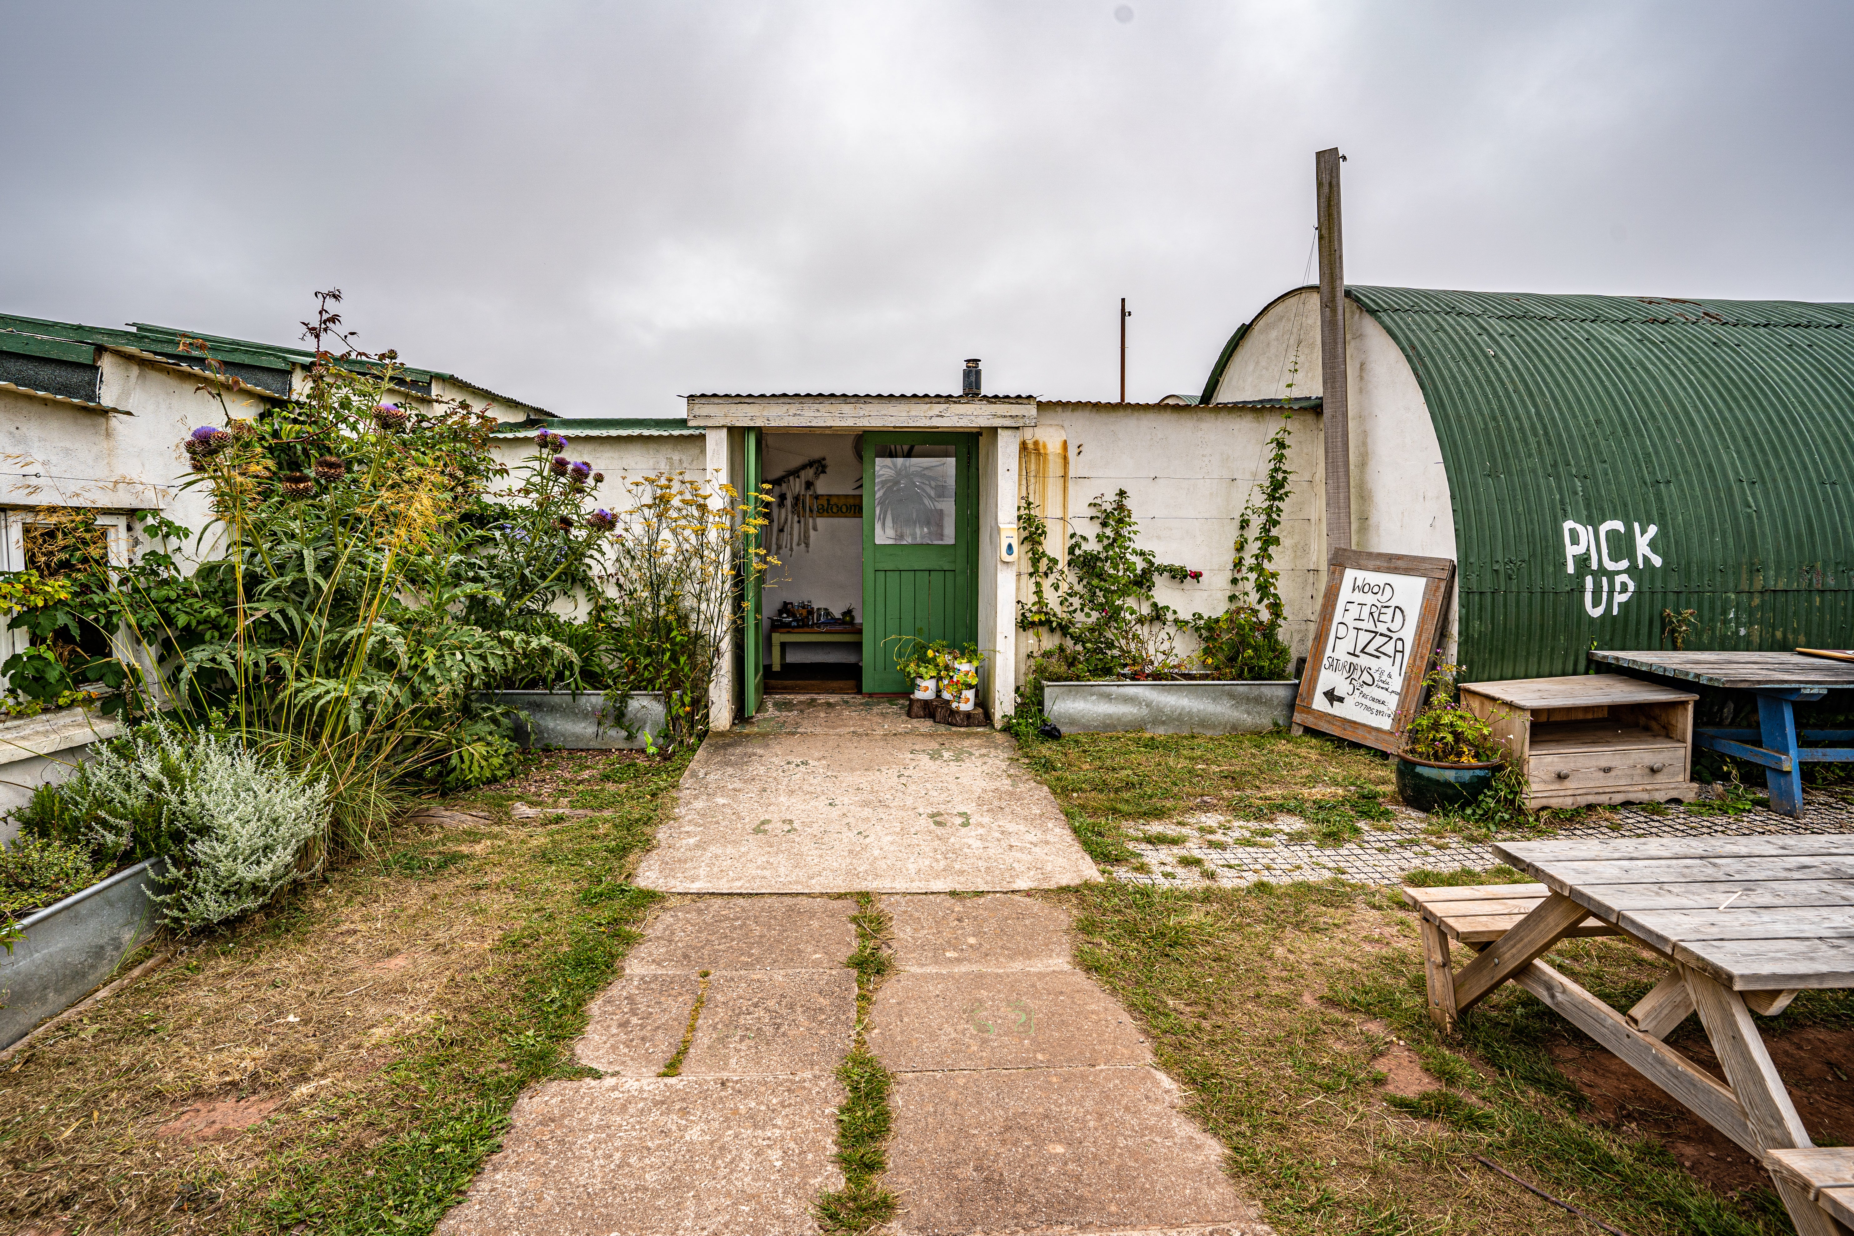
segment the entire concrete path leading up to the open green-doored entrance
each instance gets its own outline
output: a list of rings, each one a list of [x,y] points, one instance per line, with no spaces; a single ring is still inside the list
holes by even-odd
[[[895,1075],[892,1236],[1266,1232],[1138,1025],[1070,965],[1068,915],[947,895],[1099,878],[1012,754],[842,697],[782,697],[710,736],[634,877],[708,895],[654,914],[591,1004],[577,1051],[603,1077],[525,1093],[438,1230],[814,1236],[844,1188],[857,889],[892,921],[864,1027]]]

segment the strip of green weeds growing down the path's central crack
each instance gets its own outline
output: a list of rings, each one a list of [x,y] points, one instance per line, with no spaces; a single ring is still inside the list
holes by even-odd
[[[888,1129],[894,1114],[888,1090],[894,1077],[870,1051],[864,1030],[875,990],[888,973],[883,949],[888,915],[873,893],[857,893],[857,951],[844,962],[857,971],[857,1041],[836,1069],[844,1082],[844,1104],[836,1112],[836,1162],[844,1169],[844,1188],[818,1199],[818,1223],[827,1232],[868,1232],[895,1217],[895,1195],[883,1188],[888,1169]]]

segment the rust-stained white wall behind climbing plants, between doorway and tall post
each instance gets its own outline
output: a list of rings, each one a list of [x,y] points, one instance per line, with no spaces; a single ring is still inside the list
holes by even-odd
[[[1055,404],[1038,406],[1038,439],[1066,439],[1068,532],[1096,537],[1088,502],[1127,491],[1138,521],[1138,543],[1159,561],[1201,571],[1194,584],[1161,580],[1155,599],[1181,615],[1220,613],[1229,595],[1229,560],[1242,508],[1268,473],[1268,435],[1283,423],[1277,408],[1203,408],[1190,404]],[[1314,569],[1316,519],[1322,504],[1318,482],[1318,417],[1290,419],[1289,467],[1294,487],[1281,521],[1281,599],[1287,602],[1285,637],[1296,656],[1305,654],[1316,617]],[[1051,547],[1057,530],[1051,528]],[[1020,573],[1027,567],[1020,565]],[[1018,595],[1027,595],[1020,582]],[[1179,652],[1194,649],[1188,632],[1177,632]],[[1022,641],[1022,656],[1029,641]]]

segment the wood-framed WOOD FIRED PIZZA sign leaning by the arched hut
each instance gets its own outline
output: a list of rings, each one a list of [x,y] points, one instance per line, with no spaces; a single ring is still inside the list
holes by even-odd
[[[1333,550],[1294,728],[1398,750],[1441,643],[1455,563]]]

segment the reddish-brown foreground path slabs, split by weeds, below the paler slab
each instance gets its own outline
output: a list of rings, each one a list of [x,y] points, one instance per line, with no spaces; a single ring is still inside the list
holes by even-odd
[[[1224,1147],[1177,1110],[1137,1023],[1070,965],[1068,915],[1012,895],[883,897],[895,969],[870,1049],[895,1073],[895,1236],[1261,1236]],[[818,1232],[831,1071],[851,1047],[855,902],[660,912],[591,1008],[599,1080],[525,1095],[447,1236]],[[680,1077],[656,1077],[680,1054]]]

